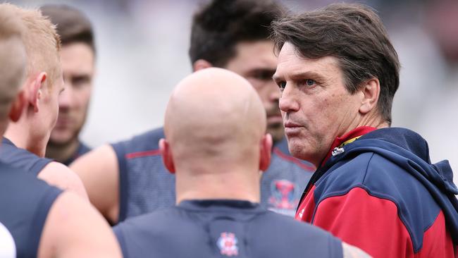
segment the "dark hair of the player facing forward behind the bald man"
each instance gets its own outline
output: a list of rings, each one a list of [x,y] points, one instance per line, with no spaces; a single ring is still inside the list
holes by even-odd
[[[190,59],[223,67],[235,56],[239,42],[268,40],[273,20],[284,13],[271,0],[213,0],[192,18]]]

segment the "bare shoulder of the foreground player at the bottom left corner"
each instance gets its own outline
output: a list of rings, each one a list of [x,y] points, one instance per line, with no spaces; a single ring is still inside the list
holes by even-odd
[[[63,192],[44,223],[38,257],[121,257],[100,214],[73,192]]]

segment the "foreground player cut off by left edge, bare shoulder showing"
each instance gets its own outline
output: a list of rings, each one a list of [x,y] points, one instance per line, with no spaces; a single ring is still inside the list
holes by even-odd
[[[8,114],[23,115],[16,98],[25,79],[26,27],[18,8],[0,4],[0,133]],[[0,146],[3,149],[4,145]],[[106,221],[85,200],[0,161],[0,257],[120,257]]]

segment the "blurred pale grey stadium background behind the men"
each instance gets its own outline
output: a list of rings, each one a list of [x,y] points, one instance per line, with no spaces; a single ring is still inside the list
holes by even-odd
[[[68,4],[94,25],[97,76],[82,140],[96,147],[162,124],[174,85],[191,72],[192,13],[200,0],[14,0]],[[293,11],[333,1],[282,1]],[[352,1],[348,1],[352,2]],[[428,140],[431,160],[450,159],[458,182],[458,1],[358,1],[378,10],[402,64],[393,126]]]

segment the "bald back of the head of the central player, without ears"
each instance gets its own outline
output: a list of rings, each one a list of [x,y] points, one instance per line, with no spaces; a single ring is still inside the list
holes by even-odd
[[[221,68],[182,80],[168,102],[164,123],[175,163],[256,156],[266,113],[245,78]],[[259,149],[257,149],[259,152]]]

